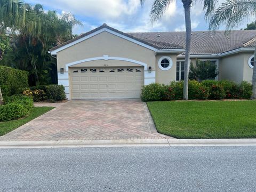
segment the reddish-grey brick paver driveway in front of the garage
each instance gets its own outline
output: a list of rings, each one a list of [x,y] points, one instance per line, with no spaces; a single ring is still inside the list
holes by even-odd
[[[42,105],[41,105],[42,106]],[[0,140],[165,139],[139,100],[72,100]]]

